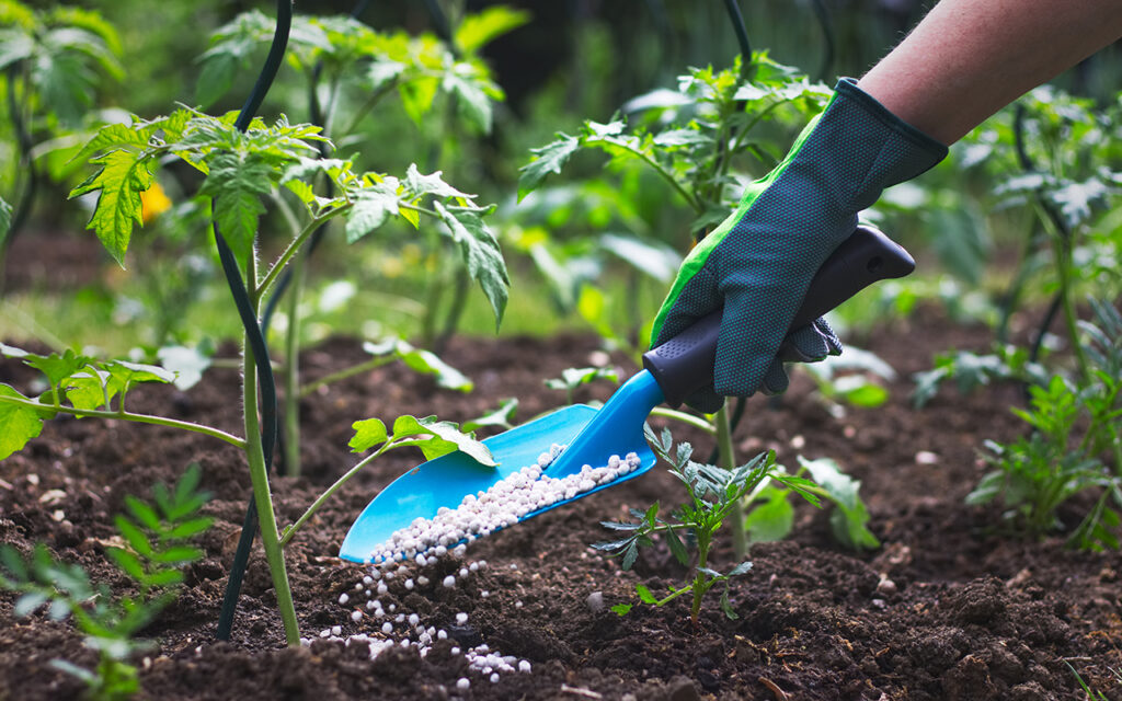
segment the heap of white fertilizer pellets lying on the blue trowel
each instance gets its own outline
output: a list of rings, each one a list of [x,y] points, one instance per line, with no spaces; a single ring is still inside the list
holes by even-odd
[[[454,509],[441,507],[431,519],[414,519],[408,527],[395,532],[375,547],[368,561],[383,563],[408,559],[417,564],[422,561],[429,563],[430,551],[439,557],[453,545],[452,554],[462,557],[467,551],[465,542],[505,528],[527,514],[618,479],[633,472],[641,462],[637,454],[628,453],[624,459],[613,455],[603,468],[585,465],[580,472],[563,478],[543,474],[543,470],[562,450],[561,446],[553,446],[550,453],[542,454],[537,464],[513,472],[487,491],[466,496]],[[461,579],[465,575],[460,573]],[[386,571],[384,577],[390,578],[392,571]],[[449,584],[447,578],[444,582],[447,587],[456,584],[454,581]]]

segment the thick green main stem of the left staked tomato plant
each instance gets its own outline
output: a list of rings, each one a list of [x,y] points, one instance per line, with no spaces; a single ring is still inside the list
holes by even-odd
[[[257,265],[250,256],[246,279],[254,280]],[[255,306],[256,306],[255,299]],[[256,313],[256,310],[255,310]],[[249,341],[245,343],[242,357],[242,418],[246,427],[246,459],[249,462],[249,479],[254,486],[254,501],[257,505],[257,518],[261,529],[261,545],[265,547],[265,560],[273,575],[273,589],[276,591],[277,609],[284,622],[285,640],[291,647],[300,645],[300,622],[296,620],[296,607],[292,599],[292,587],[288,584],[288,572],[285,569],[284,550],[280,547],[280,535],[277,533],[276,514],[273,510],[273,495],[269,492],[268,467],[265,464],[265,451],[261,442],[261,428],[257,418],[257,363],[254,359]]]

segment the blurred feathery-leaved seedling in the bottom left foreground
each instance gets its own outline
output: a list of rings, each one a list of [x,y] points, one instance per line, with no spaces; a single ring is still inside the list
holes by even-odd
[[[42,607],[53,620],[73,617],[85,635],[86,647],[98,652],[98,666],[80,667],[65,660],[52,664],[86,684],[86,694],[98,701],[130,699],[138,690],[134,655],[151,644],[136,636],[173,603],[183,583],[183,569],[203,556],[191,538],[211,526],[201,516],[208,496],[197,491],[199,465],[193,464],[172,488],[156,485],[154,504],[126,497],[128,515],[117,516],[125,547],[110,546],[105,554],[130,580],[136,593],[116,597],[104,584],[94,584],[81,565],[57,560],[46,545],[37,545],[25,557],[11,545],[0,545],[0,587],[20,593],[17,616],[30,616]]]

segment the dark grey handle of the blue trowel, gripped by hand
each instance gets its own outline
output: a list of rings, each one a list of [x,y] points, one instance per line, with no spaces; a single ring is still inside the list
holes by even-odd
[[[857,227],[818,269],[788,332],[806,326],[877,280],[903,277],[914,269],[916,261],[902,246],[872,227]],[[702,316],[643,356],[643,367],[659,382],[666,404],[678,406],[712,384],[721,311]],[[785,347],[780,348],[779,357],[798,360]]]

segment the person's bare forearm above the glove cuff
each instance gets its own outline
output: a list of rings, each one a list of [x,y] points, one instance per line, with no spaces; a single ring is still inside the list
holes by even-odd
[[[941,0],[857,86],[950,145],[1119,37],[1120,0]]]

